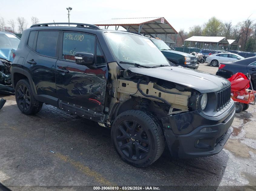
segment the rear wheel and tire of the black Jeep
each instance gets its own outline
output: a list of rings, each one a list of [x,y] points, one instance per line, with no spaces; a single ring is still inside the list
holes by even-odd
[[[15,98],[22,113],[32,115],[42,109],[43,103],[35,99],[27,79],[19,80],[16,84]]]

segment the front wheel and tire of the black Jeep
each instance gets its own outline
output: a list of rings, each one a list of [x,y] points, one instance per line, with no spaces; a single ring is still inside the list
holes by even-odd
[[[163,153],[165,141],[161,125],[149,112],[128,110],[116,117],[111,139],[121,158],[136,167],[146,167]]]

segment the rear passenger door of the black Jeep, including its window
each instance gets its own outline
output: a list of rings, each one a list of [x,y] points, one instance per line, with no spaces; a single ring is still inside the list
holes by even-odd
[[[25,59],[24,68],[33,81],[35,93],[57,97],[55,64],[57,62],[58,31],[32,31],[28,39],[31,51]]]

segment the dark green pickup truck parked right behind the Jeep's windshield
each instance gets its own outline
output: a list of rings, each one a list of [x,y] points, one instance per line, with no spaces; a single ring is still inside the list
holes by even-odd
[[[165,55],[172,63],[183,66],[185,68],[197,69],[197,58],[194,55],[171,50],[169,46],[159,38],[149,38],[155,46]]]

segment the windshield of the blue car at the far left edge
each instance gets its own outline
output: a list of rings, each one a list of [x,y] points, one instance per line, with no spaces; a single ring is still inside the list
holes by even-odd
[[[17,49],[20,39],[13,34],[0,34],[0,48]]]

